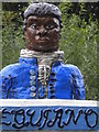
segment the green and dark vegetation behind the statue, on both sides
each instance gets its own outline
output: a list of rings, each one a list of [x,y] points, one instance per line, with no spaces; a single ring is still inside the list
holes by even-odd
[[[3,3],[2,66],[16,63],[20,50],[25,47],[23,11],[29,3]],[[79,67],[84,75],[86,99],[98,100],[97,38],[98,3],[55,3],[62,10],[61,50],[65,63]]]

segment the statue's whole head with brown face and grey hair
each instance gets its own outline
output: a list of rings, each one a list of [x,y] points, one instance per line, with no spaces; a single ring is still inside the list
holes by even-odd
[[[24,11],[24,36],[26,48],[37,52],[58,50],[62,13],[51,3],[32,3]]]

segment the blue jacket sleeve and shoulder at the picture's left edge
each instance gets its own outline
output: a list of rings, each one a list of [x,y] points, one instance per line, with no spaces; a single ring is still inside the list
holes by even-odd
[[[9,90],[12,88],[12,84],[15,84],[16,70],[19,69],[20,64],[11,64],[6,66],[0,72],[0,98],[8,98]],[[3,90],[2,90],[3,89]]]

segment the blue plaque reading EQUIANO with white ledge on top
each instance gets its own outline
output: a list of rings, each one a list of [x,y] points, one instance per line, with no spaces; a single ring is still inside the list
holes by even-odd
[[[99,101],[1,99],[0,130],[99,130]]]

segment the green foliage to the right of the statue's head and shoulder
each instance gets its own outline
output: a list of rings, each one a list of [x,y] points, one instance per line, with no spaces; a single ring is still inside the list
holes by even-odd
[[[80,15],[73,13],[69,19],[66,10],[72,8],[72,3],[61,3],[63,12],[64,28],[62,30],[61,50],[65,52],[65,63],[79,67],[84,75],[86,99],[98,99],[97,86],[97,20],[89,22]],[[79,14],[84,12],[84,4],[80,4]]]

